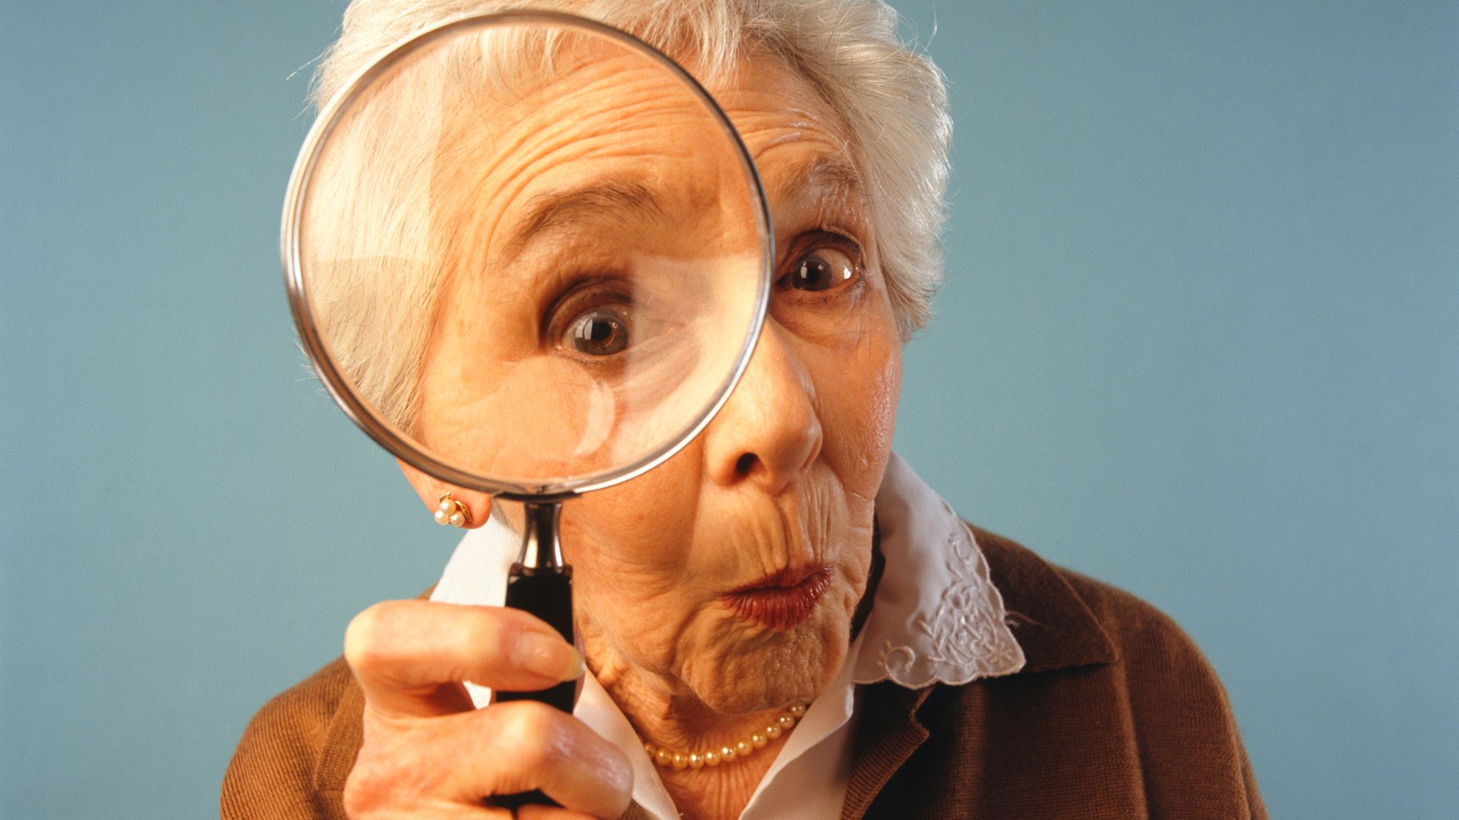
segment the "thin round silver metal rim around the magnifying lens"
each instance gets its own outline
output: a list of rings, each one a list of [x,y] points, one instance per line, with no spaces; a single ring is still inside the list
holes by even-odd
[[[464,471],[446,461],[435,458],[435,455],[426,451],[423,445],[417,445],[413,439],[403,436],[394,425],[384,420],[374,407],[362,401],[355,394],[353,387],[349,385],[349,381],[336,363],[328,344],[324,343],[320,328],[314,321],[314,312],[309,308],[308,287],[303,277],[303,264],[301,263],[299,254],[299,235],[303,220],[303,193],[308,190],[309,181],[314,178],[315,162],[320,158],[320,150],[325,140],[328,140],[330,134],[333,134],[340,117],[350,108],[365,88],[409,54],[413,54],[419,48],[427,47],[441,38],[449,36],[460,29],[534,23],[576,28],[588,34],[607,38],[662,64],[674,76],[677,76],[700,99],[700,102],[705,104],[719,124],[721,130],[724,130],[725,136],[730,137],[730,142],[740,158],[740,165],[746,172],[747,181],[750,182],[751,194],[759,204],[756,209],[756,220],[759,222],[762,250],[760,276],[757,283],[754,315],[750,320],[750,331],[746,336],[744,346],[740,350],[740,357],[735,362],[734,371],[721,385],[719,394],[715,400],[700,413],[700,417],[694,423],[686,426],[668,446],[652,455],[639,458],[638,461],[623,467],[604,470],[581,479],[569,479],[556,484],[500,481]],[[321,381],[324,381],[324,387],[330,391],[330,395],[334,397],[334,401],[341,410],[344,410],[344,414],[349,416],[350,420],[353,420],[362,430],[365,430],[366,435],[375,439],[375,442],[392,455],[406,461],[411,467],[422,470],[423,473],[441,479],[442,481],[448,481],[458,487],[481,490],[505,499],[541,502],[572,498],[579,493],[598,490],[627,481],[635,476],[641,476],[683,449],[683,446],[693,441],[693,438],[697,436],[706,425],[709,425],[711,419],[719,413],[719,409],[724,407],[725,401],[728,401],[730,394],[740,382],[740,376],[744,375],[746,368],[750,365],[750,356],[754,353],[754,346],[760,339],[760,330],[765,324],[765,314],[769,305],[770,283],[775,267],[775,233],[770,225],[770,209],[765,197],[765,188],[760,184],[760,174],[754,166],[754,160],[750,158],[750,152],[746,147],[744,140],[740,139],[740,133],[730,123],[730,117],[724,112],[715,98],[711,96],[709,92],[689,74],[689,71],[680,67],[678,63],[636,36],[595,20],[559,12],[519,10],[465,15],[413,35],[365,67],[338,93],[336,93],[333,99],[330,99],[330,102],[320,112],[318,120],[315,120],[314,127],[309,128],[303,147],[299,150],[299,158],[295,160],[293,172],[289,177],[289,191],[285,196],[283,207],[280,252],[283,255],[285,285],[289,290],[289,306],[293,311],[295,328],[299,331],[299,340],[303,344],[303,350],[308,355],[309,362],[314,365],[315,372],[318,372]]]

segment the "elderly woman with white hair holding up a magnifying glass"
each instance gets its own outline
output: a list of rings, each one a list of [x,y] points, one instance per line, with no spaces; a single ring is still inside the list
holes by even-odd
[[[498,6],[355,0],[320,99],[400,38]],[[940,74],[894,13],[537,6],[636,34],[721,99],[781,248],[763,336],[700,436],[565,514],[581,654],[495,606],[511,517],[406,467],[429,509],[449,492],[474,531],[429,601],[371,607],[343,660],[258,713],[223,816],[506,817],[493,797],[541,789],[560,807],[518,817],[1263,817],[1221,686],[1179,627],[967,527],[891,452],[950,133]],[[461,303],[444,299],[444,327],[468,322]],[[416,429],[449,423],[438,398],[463,374],[439,353],[382,388]],[[489,692],[578,678],[572,715]]]

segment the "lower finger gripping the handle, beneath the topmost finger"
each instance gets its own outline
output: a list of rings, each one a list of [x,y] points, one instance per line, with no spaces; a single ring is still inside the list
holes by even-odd
[[[461,766],[461,800],[541,789],[568,811],[619,817],[633,797],[633,767],[623,751],[546,703],[496,703],[432,724],[442,760]],[[522,811],[518,817],[530,817]]]

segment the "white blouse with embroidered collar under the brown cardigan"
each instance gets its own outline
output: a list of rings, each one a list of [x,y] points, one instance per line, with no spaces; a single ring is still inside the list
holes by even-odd
[[[1023,649],[1005,623],[1002,595],[988,578],[973,534],[899,455],[877,493],[886,568],[871,613],[840,674],[807,709],[740,820],[835,820],[851,778],[861,684],[883,680],[921,689],[963,684],[1023,668]],[[492,521],[461,540],[432,601],[500,606],[519,537]],[[467,684],[477,706],[490,690]],[[677,820],[657,767],[627,718],[589,673],[573,715],[633,763],[633,801],[654,820]]]

